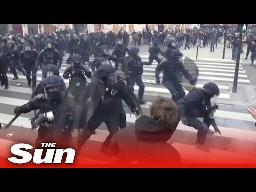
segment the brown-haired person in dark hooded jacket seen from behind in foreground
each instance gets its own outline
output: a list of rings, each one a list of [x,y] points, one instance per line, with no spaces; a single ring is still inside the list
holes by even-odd
[[[110,142],[110,150],[120,164],[137,161],[139,165],[172,166],[180,164],[180,154],[167,141],[180,121],[172,99],[158,98],[150,107],[150,116],[140,116],[135,125],[119,130]]]

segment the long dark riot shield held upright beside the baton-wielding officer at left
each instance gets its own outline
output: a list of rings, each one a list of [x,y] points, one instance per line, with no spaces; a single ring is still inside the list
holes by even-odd
[[[86,119],[86,101],[90,98],[90,91],[86,81],[80,78],[73,78],[70,81],[68,90],[58,108],[54,121],[50,125],[47,141],[56,144],[69,144],[74,129],[79,129],[81,119]],[[86,122],[86,120],[85,120]],[[83,128],[83,127],[81,127]]]

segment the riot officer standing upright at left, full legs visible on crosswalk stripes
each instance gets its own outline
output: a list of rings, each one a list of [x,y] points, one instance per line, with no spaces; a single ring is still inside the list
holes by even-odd
[[[23,51],[20,53],[19,65],[26,70],[26,78],[28,81],[28,86],[31,86],[31,77],[32,73],[32,90],[36,89],[36,59],[38,58],[38,52],[32,50],[30,44],[25,43],[23,46]]]

